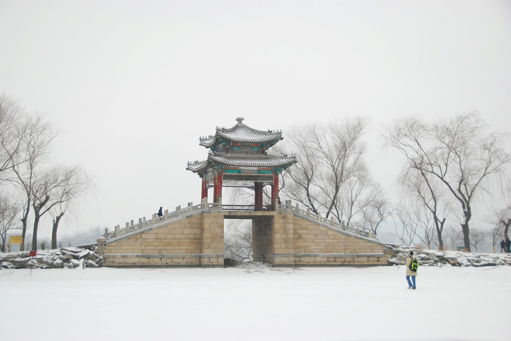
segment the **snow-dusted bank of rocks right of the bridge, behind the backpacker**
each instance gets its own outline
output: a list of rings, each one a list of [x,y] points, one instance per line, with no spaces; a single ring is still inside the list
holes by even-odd
[[[423,250],[408,246],[386,244],[383,247],[389,265],[405,265],[410,251],[419,260],[419,266],[494,267],[511,265],[509,253],[483,253]]]

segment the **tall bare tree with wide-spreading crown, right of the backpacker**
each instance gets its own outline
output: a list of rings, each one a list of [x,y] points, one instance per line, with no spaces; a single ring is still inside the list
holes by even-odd
[[[506,136],[486,133],[477,112],[424,123],[410,117],[385,128],[388,144],[406,158],[407,167],[431,175],[459,203],[463,244],[470,251],[472,202],[489,188],[488,180],[502,174],[511,161]]]

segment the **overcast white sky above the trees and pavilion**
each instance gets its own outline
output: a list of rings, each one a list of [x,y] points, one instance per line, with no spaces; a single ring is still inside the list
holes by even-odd
[[[0,93],[62,129],[55,160],[101,193],[60,233],[200,201],[199,136],[479,110],[511,123],[509,1],[4,1]],[[49,232],[49,227],[43,231]]]

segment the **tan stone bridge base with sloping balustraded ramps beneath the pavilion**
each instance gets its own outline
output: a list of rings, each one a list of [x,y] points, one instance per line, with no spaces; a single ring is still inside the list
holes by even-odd
[[[274,211],[235,211],[207,198],[105,231],[98,239],[103,265],[223,267],[224,219],[251,219],[253,260],[274,267],[387,265],[383,244],[370,231],[325,219],[290,200]]]

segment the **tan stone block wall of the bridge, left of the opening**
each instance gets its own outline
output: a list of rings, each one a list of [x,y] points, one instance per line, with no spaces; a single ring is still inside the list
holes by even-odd
[[[223,216],[203,211],[103,246],[105,267],[223,267]]]

